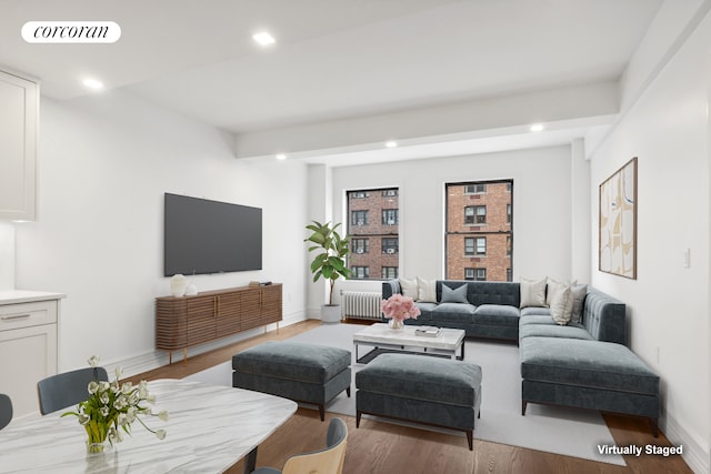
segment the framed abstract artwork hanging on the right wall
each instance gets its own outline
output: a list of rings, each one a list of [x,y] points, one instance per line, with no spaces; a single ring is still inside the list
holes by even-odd
[[[600,184],[601,272],[637,279],[637,158]]]

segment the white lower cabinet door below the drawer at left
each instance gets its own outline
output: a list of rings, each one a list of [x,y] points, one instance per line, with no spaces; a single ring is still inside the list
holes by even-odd
[[[13,417],[39,412],[37,382],[57,373],[57,324],[0,331],[0,392]]]

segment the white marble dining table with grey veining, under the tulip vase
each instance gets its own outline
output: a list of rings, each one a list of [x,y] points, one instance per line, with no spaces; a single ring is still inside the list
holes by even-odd
[[[122,442],[88,454],[83,427],[61,410],[0,430],[0,473],[220,473],[242,457],[251,472],[260,443],[297,411],[291,400],[242,389],[169,379],[148,386],[153,411],[169,420],[141,418],[166,430],[164,440],[136,421]]]

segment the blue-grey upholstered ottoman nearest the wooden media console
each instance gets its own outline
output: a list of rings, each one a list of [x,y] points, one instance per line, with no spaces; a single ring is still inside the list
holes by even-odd
[[[346,391],[351,396],[351,353],[327,345],[266,342],[232,356],[232,386],[319,406]]]

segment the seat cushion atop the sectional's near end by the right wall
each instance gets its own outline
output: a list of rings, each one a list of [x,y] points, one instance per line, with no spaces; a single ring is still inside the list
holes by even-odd
[[[523,337],[521,376],[530,381],[659,394],[659,376],[622,344],[561,337]]]

